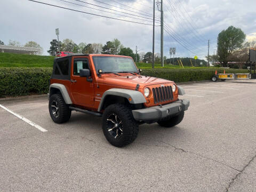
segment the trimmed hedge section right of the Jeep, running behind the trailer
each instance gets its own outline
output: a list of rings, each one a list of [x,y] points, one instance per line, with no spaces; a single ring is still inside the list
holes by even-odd
[[[176,83],[210,80],[215,74],[215,68],[190,68],[190,69],[142,69],[141,75],[169,79]],[[224,69],[218,68],[218,73]],[[248,73],[244,69],[226,69],[226,73]]]

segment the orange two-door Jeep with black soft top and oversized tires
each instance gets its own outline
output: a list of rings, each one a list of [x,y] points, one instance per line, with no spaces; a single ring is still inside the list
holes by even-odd
[[[49,112],[65,123],[71,111],[102,116],[106,139],[122,147],[137,138],[138,125],[179,124],[189,100],[174,82],[141,76],[131,57],[81,54],[56,58],[50,79]]]

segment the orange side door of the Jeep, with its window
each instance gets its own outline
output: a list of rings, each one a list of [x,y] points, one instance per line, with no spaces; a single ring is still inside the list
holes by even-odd
[[[89,69],[89,58],[73,58],[71,70],[71,95],[75,105],[92,106],[93,105],[93,81],[92,77],[80,77],[80,69]],[[92,74],[92,73],[91,73]]]

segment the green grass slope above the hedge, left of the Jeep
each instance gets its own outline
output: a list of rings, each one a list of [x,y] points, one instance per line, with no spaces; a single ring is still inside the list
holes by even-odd
[[[0,53],[0,67],[52,67],[55,57]]]

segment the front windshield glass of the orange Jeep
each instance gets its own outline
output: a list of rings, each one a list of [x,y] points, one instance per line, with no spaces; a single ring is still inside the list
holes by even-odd
[[[101,69],[102,73],[138,73],[138,69],[131,58],[93,56],[93,63],[97,72]]]

